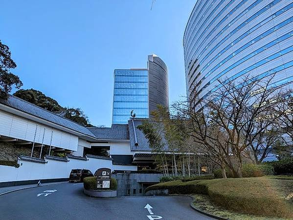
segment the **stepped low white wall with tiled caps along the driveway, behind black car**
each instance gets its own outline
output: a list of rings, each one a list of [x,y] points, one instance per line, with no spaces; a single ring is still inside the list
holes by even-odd
[[[20,156],[20,167],[0,165],[0,183],[11,182],[10,185],[26,180],[64,180],[69,177],[71,169],[89,169],[93,174],[102,167],[115,170],[111,158],[87,155],[86,158],[68,156],[62,159],[45,156],[45,159]],[[136,171],[136,166],[119,165],[119,170]],[[27,183],[22,183],[27,184]]]

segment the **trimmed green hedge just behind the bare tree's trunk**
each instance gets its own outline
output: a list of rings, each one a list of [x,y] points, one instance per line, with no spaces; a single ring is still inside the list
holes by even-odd
[[[232,171],[230,169],[225,170],[227,178],[233,178]],[[256,165],[253,163],[246,163],[242,165],[242,177],[263,177],[267,175],[274,175],[274,168],[269,164]],[[215,170],[214,176],[216,179],[223,178],[222,170]]]

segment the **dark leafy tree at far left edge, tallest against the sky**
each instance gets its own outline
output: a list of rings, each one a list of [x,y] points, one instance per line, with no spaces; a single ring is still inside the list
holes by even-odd
[[[7,99],[13,85],[19,89],[23,86],[20,78],[10,72],[16,68],[16,63],[11,59],[9,47],[0,41],[0,98]]]

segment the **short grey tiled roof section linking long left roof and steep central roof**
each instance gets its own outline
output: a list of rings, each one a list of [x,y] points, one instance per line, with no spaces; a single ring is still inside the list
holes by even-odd
[[[129,140],[127,124],[112,124],[112,127],[88,127],[97,139]]]

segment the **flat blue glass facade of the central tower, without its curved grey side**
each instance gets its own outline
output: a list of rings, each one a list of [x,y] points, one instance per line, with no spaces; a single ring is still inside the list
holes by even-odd
[[[148,70],[115,70],[113,124],[128,123],[134,110],[136,118],[149,118]]]

